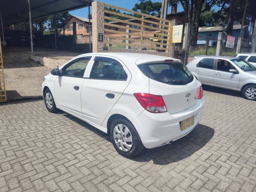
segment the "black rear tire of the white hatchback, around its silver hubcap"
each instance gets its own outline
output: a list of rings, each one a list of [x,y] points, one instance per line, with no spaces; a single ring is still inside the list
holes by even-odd
[[[118,124],[123,124],[124,126],[126,126],[129,129],[130,133],[131,133],[132,147],[130,148],[129,151],[123,151],[123,150],[121,150],[120,148],[117,147],[116,141],[114,139],[114,129],[115,129],[116,125],[118,125]],[[110,138],[111,138],[111,142],[112,142],[114,148],[116,149],[116,151],[120,155],[122,155],[126,158],[131,158],[131,157],[134,157],[134,156],[138,155],[144,148],[144,146],[143,146],[143,144],[140,140],[140,136],[139,136],[137,130],[135,129],[135,127],[129,121],[127,121],[125,119],[121,119],[121,118],[120,119],[115,119],[111,123],[111,125],[110,125]],[[125,147],[125,146],[123,145],[123,147]],[[126,148],[126,149],[128,149],[128,148]]]

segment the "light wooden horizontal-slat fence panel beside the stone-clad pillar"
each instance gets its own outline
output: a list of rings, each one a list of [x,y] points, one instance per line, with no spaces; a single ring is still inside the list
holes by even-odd
[[[168,52],[171,43],[171,21],[145,13],[104,4],[124,12],[134,13],[140,17],[104,10],[104,44],[108,47]],[[115,16],[127,18],[122,20]],[[154,41],[153,41],[154,39]]]

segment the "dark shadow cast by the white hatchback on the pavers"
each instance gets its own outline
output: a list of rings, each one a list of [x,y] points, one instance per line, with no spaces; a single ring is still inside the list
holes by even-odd
[[[108,134],[76,118],[75,116],[69,115],[63,111],[58,112],[58,114],[63,114],[70,120],[98,134],[100,138],[111,142]],[[153,149],[144,148],[144,150],[138,156],[131,158],[131,160],[138,162],[149,162],[153,160],[153,163],[158,165],[178,162],[193,155],[196,151],[203,148],[212,139],[213,135],[214,129],[202,124],[198,124],[194,130],[185,137],[162,147]]]

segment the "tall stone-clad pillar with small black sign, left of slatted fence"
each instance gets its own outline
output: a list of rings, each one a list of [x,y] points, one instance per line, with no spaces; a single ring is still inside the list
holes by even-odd
[[[103,42],[98,41],[99,33],[103,34]],[[104,47],[104,3],[92,2],[92,52],[103,52]]]

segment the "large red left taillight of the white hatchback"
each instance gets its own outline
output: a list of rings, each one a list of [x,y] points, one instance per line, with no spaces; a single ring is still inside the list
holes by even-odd
[[[161,95],[148,93],[134,93],[133,95],[139,101],[140,105],[151,113],[163,113],[167,111]]]

